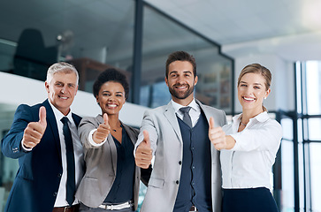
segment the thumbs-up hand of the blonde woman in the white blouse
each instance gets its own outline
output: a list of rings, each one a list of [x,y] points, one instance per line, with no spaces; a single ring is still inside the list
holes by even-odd
[[[218,150],[227,148],[225,132],[222,130],[222,127],[214,126],[213,117],[210,117],[209,126],[209,139],[210,142],[214,145],[214,148]]]

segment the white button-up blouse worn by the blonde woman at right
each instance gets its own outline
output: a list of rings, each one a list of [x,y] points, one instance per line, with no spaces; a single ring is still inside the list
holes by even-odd
[[[238,133],[240,123],[241,114],[223,127],[236,143],[230,150],[221,150],[222,187],[271,189],[271,167],[282,137],[281,125],[267,112],[249,119],[245,129]]]

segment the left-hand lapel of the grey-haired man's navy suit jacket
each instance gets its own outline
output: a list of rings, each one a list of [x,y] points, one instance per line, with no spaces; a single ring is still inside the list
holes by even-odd
[[[57,147],[57,153],[59,155],[60,163],[61,163],[61,147],[60,147],[60,139],[59,139],[59,133],[57,128],[57,121],[56,117],[51,109],[50,103],[48,102],[48,99],[44,102],[42,102],[43,106],[46,108],[46,116],[47,116],[47,129],[46,131],[50,130],[51,135],[54,137],[54,141],[56,143]]]

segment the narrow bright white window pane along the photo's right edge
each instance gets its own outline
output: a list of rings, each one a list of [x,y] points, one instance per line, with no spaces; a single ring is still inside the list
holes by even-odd
[[[310,208],[321,211],[321,61],[302,63],[303,74],[306,76],[306,125],[304,139],[307,142],[307,160],[309,160],[309,190]]]

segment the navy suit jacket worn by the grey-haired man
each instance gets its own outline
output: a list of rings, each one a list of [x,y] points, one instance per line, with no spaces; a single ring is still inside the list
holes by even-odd
[[[23,133],[28,123],[39,121],[41,106],[46,108],[47,128],[40,143],[26,152],[21,147]],[[73,114],[76,125],[79,125],[80,119]],[[2,140],[2,152],[5,156],[19,158],[19,170],[4,211],[51,212],[63,166],[56,117],[48,100],[34,106],[19,105],[11,129]]]

